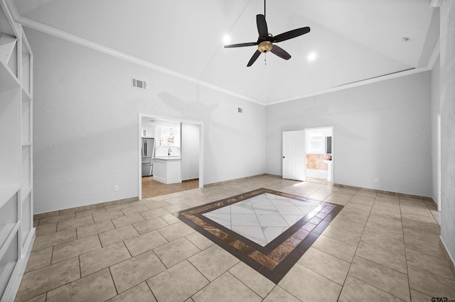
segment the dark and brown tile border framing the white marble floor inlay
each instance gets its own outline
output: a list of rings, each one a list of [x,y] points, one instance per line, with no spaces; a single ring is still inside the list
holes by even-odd
[[[222,208],[223,206],[228,206],[264,193],[284,196],[307,203],[315,203],[319,206],[264,247],[202,215],[217,208]],[[270,189],[257,189],[220,201],[207,203],[203,206],[196,206],[195,208],[180,211],[178,218],[242,260],[242,262],[245,262],[245,264],[248,264],[252,269],[267,277],[274,284],[278,284],[342,208],[343,206],[326,201],[315,201]]]

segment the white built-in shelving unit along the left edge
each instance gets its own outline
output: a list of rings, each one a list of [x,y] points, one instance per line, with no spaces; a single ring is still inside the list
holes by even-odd
[[[33,55],[0,0],[0,300],[14,301],[35,239]]]

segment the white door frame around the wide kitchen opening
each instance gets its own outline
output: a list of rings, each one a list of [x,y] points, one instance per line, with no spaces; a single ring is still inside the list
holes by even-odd
[[[142,199],[142,155],[141,155],[141,138],[142,138],[142,118],[154,118],[161,121],[172,121],[176,123],[186,123],[199,126],[199,188],[204,187],[204,123],[200,121],[188,121],[181,118],[170,118],[167,116],[154,116],[151,114],[139,113],[138,127],[138,168],[139,168],[139,200]],[[156,138],[155,138],[156,140]]]

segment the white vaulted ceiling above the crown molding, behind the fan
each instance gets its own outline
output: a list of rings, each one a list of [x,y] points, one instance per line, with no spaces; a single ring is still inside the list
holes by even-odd
[[[107,52],[116,50],[261,104],[407,69],[427,69],[438,50],[439,11],[430,0],[268,0],[270,33],[304,26],[311,32],[277,44],[291,54],[289,61],[262,54],[252,67],[246,65],[257,48],[225,49],[223,37],[230,35],[230,43],[255,42],[262,0],[14,3],[16,19],[25,26],[60,37],[69,33],[82,38],[82,44],[102,45]],[[403,37],[410,40],[403,43]],[[316,53],[313,62],[307,58],[311,52]]]

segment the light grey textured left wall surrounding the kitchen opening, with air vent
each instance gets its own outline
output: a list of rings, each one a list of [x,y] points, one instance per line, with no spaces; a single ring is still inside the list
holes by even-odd
[[[204,123],[205,184],[264,173],[263,106],[36,30],[26,35],[35,213],[139,196],[139,113]],[[132,88],[132,77],[148,89]]]

